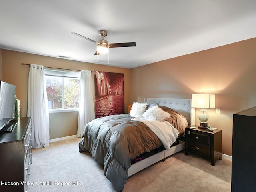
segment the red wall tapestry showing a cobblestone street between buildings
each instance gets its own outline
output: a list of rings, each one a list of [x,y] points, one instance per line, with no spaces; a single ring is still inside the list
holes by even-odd
[[[95,71],[96,118],[124,113],[124,74]]]

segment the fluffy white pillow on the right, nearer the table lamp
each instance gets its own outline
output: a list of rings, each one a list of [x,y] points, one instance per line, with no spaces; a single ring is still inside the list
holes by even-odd
[[[155,105],[149,108],[148,110],[146,110],[142,116],[147,118],[148,120],[164,121],[166,118],[169,118],[171,115],[170,113],[165,112],[164,110],[159,108],[157,105]]]

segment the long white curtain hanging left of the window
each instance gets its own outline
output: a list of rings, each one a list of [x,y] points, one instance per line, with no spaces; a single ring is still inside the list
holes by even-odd
[[[49,113],[44,66],[30,64],[28,76],[28,112],[32,120],[32,148],[48,147]]]

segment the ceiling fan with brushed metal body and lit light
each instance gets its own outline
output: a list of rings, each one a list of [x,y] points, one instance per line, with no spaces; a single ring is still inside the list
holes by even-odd
[[[84,38],[86,40],[89,40],[89,41],[91,41],[93,43],[96,43],[98,45],[98,47],[97,47],[97,50],[96,50],[94,55],[99,55],[100,53],[101,54],[107,53],[108,52],[108,48],[114,48],[114,47],[135,47],[136,46],[135,42],[130,42],[130,43],[108,43],[107,40],[104,40],[104,37],[107,36],[108,32],[106,30],[100,30],[99,33],[100,33],[100,36],[102,36],[102,39],[99,40],[98,42],[94,41],[92,39],[89,39],[89,38],[87,38],[85,36],[82,36],[80,34],[77,34],[77,33],[72,33],[72,34],[74,34],[76,36],[79,36],[79,37],[82,37],[82,38]]]

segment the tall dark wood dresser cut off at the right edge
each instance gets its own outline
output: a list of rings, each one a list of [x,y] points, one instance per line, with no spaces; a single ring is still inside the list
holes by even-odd
[[[231,191],[256,191],[256,107],[233,114]]]

